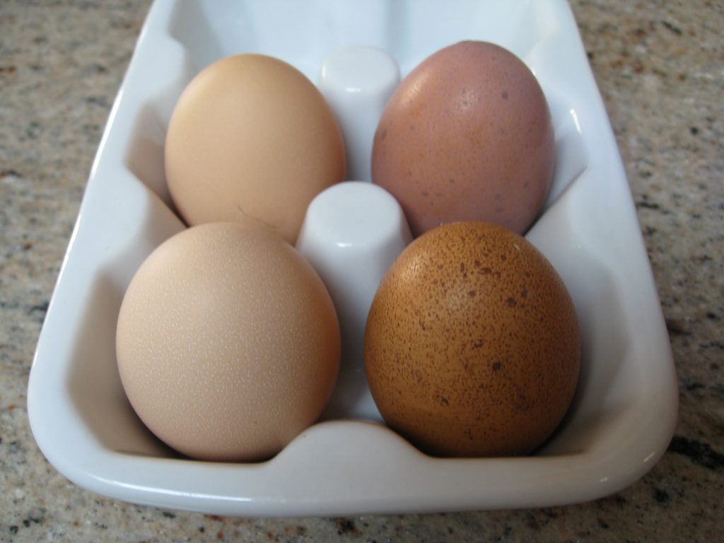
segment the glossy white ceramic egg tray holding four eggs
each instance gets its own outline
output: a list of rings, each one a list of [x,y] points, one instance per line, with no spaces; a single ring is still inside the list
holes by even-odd
[[[162,152],[182,88],[215,59],[248,51],[284,59],[317,83],[324,59],[352,45],[387,51],[404,76],[463,39],[520,56],[550,103],[554,187],[527,237],[563,277],[583,332],[581,379],[563,425],[526,458],[430,458],[369,405],[352,402],[264,463],[199,462],[162,445],[127,402],[114,335],[135,270],[183,228]],[[552,506],[641,477],[665,451],[677,408],[631,193],[565,1],[156,0],[90,172],[30,372],[30,424],[60,473],[119,500],[218,515]]]

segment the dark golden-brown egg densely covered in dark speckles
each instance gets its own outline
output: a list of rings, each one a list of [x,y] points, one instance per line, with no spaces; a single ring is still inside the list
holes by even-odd
[[[573,302],[523,237],[482,222],[418,237],[382,280],[365,334],[369,386],[393,429],[433,455],[526,454],[573,399]]]

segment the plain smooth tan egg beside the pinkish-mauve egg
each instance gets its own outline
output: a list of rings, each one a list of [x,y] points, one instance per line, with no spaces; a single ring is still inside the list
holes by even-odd
[[[345,177],[345,148],[332,110],[302,72],[237,54],[185,88],[169,122],[165,167],[188,224],[256,224],[293,244],[314,196]]]

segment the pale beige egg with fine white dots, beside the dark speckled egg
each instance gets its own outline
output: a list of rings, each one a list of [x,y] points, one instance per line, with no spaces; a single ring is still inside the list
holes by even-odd
[[[192,227],[140,266],[117,325],[141,420],[204,460],[269,458],[313,424],[340,364],[319,276],[290,245],[236,223]]]

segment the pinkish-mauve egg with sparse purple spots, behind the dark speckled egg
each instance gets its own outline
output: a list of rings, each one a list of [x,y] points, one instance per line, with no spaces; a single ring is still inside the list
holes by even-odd
[[[464,41],[403,80],[374,137],[372,180],[413,235],[481,220],[525,232],[552,180],[555,137],[536,77],[492,43]]]

